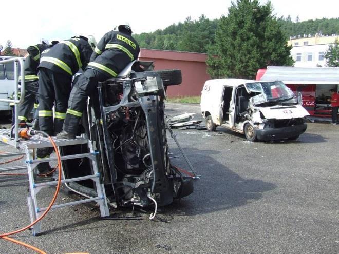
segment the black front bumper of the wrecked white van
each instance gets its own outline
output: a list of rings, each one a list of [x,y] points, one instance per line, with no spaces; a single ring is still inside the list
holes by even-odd
[[[307,129],[307,123],[281,128],[255,129],[259,140],[279,140],[298,136]]]

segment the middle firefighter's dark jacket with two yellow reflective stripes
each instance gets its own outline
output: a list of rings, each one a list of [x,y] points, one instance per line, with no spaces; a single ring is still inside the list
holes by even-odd
[[[72,76],[80,68],[86,68],[92,52],[86,40],[74,37],[46,49],[42,53],[39,68],[44,67]]]

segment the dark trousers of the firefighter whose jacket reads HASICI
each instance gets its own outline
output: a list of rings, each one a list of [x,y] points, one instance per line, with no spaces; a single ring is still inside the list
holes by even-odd
[[[108,76],[94,69],[86,69],[82,75],[74,79],[68,101],[68,109],[63,127],[64,131],[77,134],[88,96],[96,92],[98,82],[104,82],[107,79]]]

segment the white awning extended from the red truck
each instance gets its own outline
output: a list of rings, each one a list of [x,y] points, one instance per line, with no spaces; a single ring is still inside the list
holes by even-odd
[[[285,84],[339,84],[339,68],[268,66],[260,80],[281,80]]]

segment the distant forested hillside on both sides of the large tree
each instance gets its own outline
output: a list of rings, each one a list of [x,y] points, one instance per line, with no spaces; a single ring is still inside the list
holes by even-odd
[[[286,36],[303,36],[304,34],[322,33],[331,35],[339,33],[339,18],[311,19],[299,22],[291,17],[281,16],[277,18],[281,30]],[[141,48],[178,50],[198,53],[214,53],[215,33],[219,19],[208,19],[201,15],[197,20],[187,17],[186,20],[178,24],[173,24],[167,28],[150,33],[135,34]]]

